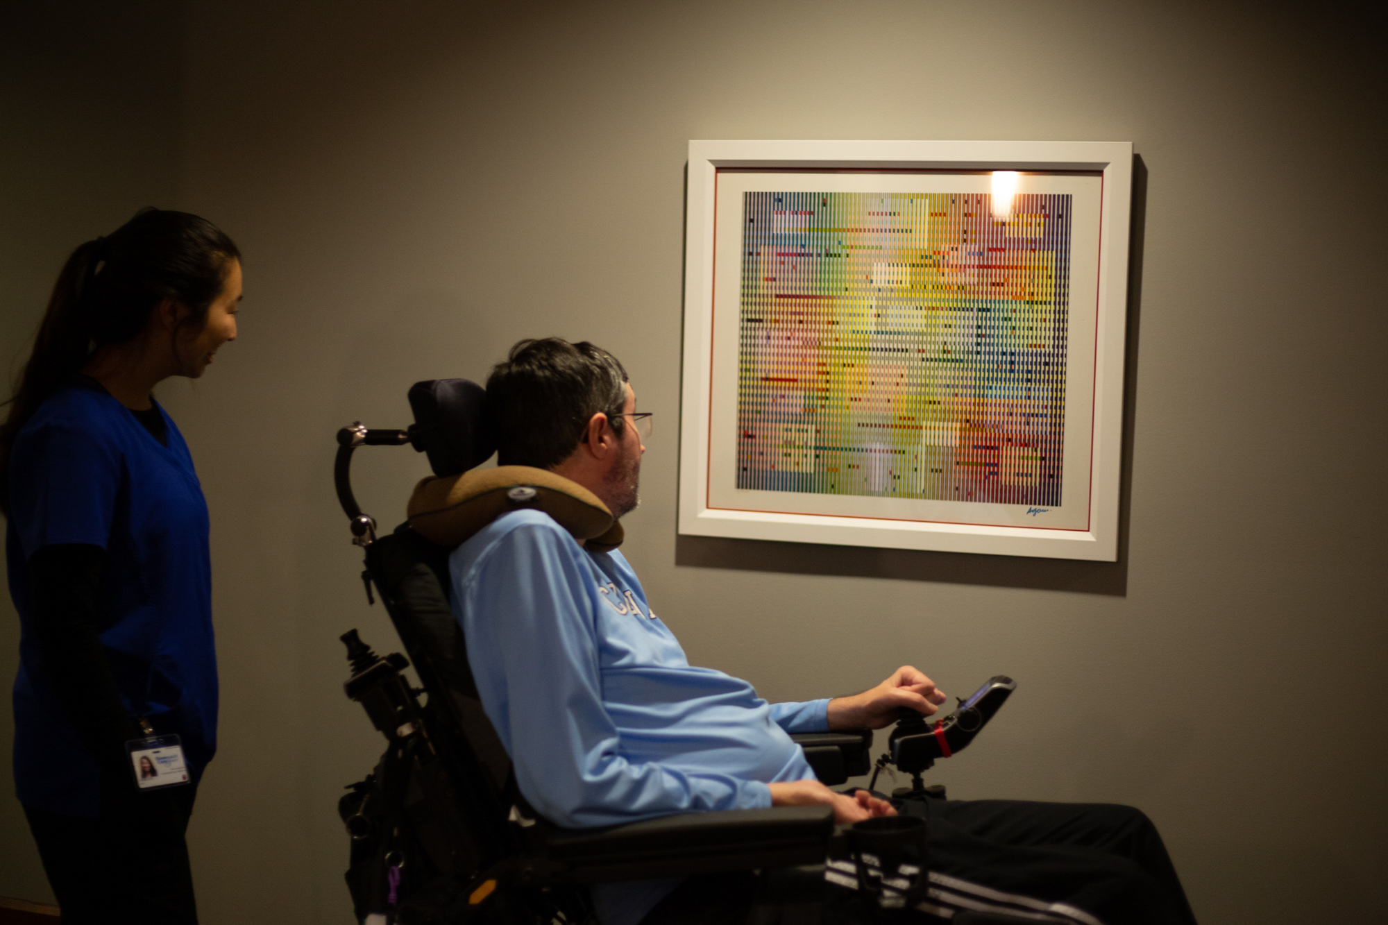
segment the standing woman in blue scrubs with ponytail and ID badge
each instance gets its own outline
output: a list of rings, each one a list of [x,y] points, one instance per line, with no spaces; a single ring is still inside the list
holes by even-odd
[[[15,789],[67,925],[197,922],[185,831],[217,744],[208,515],[151,390],[207,371],[240,297],[230,238],[143,210],[62,267],[0,425]],[[140,788],[128,743],[151,735],[179,738],[187,783]]]

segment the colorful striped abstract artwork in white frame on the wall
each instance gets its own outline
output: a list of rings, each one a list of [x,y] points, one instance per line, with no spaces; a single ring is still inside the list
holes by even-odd
[[[1130,143],[688,158],[680,533],[1117,557]]]

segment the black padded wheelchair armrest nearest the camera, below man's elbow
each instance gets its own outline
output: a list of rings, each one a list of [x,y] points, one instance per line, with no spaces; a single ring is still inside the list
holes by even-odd
[[[547,828],[540,879],[593,883],[819,864],[830,807],[690,812],[600,829]]]

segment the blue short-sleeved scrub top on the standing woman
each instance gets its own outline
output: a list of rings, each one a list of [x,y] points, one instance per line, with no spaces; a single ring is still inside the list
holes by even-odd
[[[49,397],[11,447],[6,556],[21,626],[14,778],[25,806],[94,818],[100,804],[97,765],[33,639],[28,560],[44,546],[107,551],[100,636],[132,719],[179,735],[194,781],[217,749],[207,501],[183,435],[164,421],[167,447],[104,389],[75,383]]]

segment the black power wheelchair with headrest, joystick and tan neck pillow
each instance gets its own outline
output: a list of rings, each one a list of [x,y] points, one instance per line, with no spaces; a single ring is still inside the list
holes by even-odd
[[[836,831],[827,807],[698,812],[594,829],[558,828],[529,807],[472,679],[466,640],[448,604],[447,558],[458,543],[518,507],[540,507],[598,549],[619,544],[622,526],[586,489],[551,472],[475,471],[494,451],[480,386],[465,379],[421,382],[408,399],[415,418],[408,429],[354,424],[337,435],[337,499],[353,542],[365,553],[366,597],[380,597],[408,653],[380,657],[355,629],[341,636],[351,662],[347,696],[365,707],[387,742],[372,774],[347,788],[339,803],[351,836],[347,883],[358,921],[580,924],[595,921],[590,883],[758,871],[754,922],[816,922],[826,857],[848,858],[851,849],[851,833]],[[353,453],[404,444],[428,456],[434,476],[416,488],[409,519],[378,536],[376,522],[353,494]],[[422,688],[404,674],[411,664]],[[1004,688],[1002,699],[1010,690]],[[942,796],[942,788],[922,786],[920,771],[949,754],[951,742],[952,750],[966,744],[998,704],[992,697],[987,715],[970,707],[972,726],[958,721],[960,714],[951,714],[948,729],[926,726],[919,717],[905,719],[879,769],[894,758],[915,775],[917,794]],[[827,785],[870,769],[870,731],[793,738]],[[908,851],[908,858],[924,865],[919,853]],[[911,894],[923,894],[924,876],[919,881]],[[956,921],[1020,919],[965,914]]]

